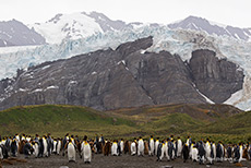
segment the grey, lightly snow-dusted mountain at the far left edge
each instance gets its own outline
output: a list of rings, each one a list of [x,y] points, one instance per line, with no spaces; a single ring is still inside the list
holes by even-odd
[[[23,23],[16,20],[0,22],[0,47],[43,44],[45,38]]]

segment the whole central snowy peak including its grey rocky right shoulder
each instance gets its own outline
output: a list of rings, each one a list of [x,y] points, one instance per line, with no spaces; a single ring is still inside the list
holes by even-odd
[[[108,31],[133,28],[141,23],[125,24],[122,21],[112,21],[103,13],[79,12],[72,14],[57,14],[46,23],[28,25],[41,34],[49,44],[60,44],[63,39],[79,39]]]

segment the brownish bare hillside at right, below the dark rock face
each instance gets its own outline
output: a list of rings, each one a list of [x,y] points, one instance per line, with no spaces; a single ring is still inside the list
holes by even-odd
[[[134,120],[138,123],[152,122],[163,119],[167,115],[171,116],[172,113],[183,113],[189,116],[192,120],[200,120],[205,123],[210,123],[217,121],[219,118],[227,118],[236,113],[240,113],[241,110],[228,105],[175,104],[145,106],[139,108],[122,108],[105,112],[109,116]]]

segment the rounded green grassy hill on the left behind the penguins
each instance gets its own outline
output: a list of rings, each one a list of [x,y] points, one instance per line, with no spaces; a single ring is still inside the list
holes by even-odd
[[[15,107],[0,111],[0,134],[67,132],[93,135],[97,131],[113,134],[116,130],[134,131],[134,123],[111,118],[85,107],[43,105]],[[109,128],[109,130],[106,130]]]

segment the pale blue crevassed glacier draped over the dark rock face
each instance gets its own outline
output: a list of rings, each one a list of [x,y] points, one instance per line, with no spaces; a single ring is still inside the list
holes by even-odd
[[[170,29],[168,26],[142,26],[107,33],[96,33],[80,39],[64,39],[61,44],[19,48],[16,51],[0,49],[0,79],[13,77],[17,69],[27,70],[46,61],[67,59],[98,49],[116,49],[120,44],[153,36],[154,44],[146,51],[167,50],[189,61],[195,49],[214,50],[218,58],[227,59],[244,72],[243,88],[225,101],[243,110],[251,107],[251,43],[228,36],[208,35],[204,32]],[[144,51],[143,51],[144,52]]]

